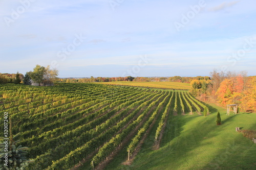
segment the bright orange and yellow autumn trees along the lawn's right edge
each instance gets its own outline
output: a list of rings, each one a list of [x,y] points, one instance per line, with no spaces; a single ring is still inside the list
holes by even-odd
[[[210,77],[208,80],[192,80],[189,92],[201,100],[216,101],[221,106],[238,104],[244,111],[256,111],[256,76],[247,76],[245,71],[214,70]]]

